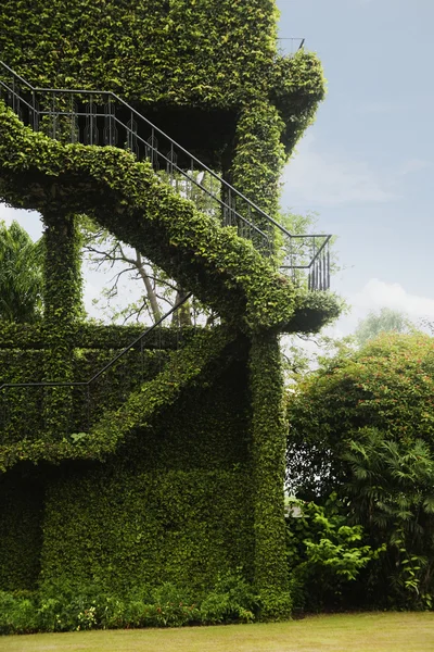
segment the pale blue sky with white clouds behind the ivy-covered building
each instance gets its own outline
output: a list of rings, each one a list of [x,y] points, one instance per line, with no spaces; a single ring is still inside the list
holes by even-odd
[[[335,335],[382,306],[434,321],[433,0],[278,0],[292,37],[320,57],[328,95],[283,175],[282,208],[336,236],[332,289],[352,306]],[[34,238],[35,215],[0,205]],[[99,296],[87,274],[86,303]]]

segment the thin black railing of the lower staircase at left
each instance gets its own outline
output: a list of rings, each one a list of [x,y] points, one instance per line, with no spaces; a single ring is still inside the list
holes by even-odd
[[[163,333],[164,323],[169,317],[175,317],[177,311],[189,301],[192,293],[179,301],[155,324],[148,327],[128,347],[123,349],[102,368],[93,374],[88,380],[78,381],[34,381],[34,383],[3,383],[0,385],[0,443],[13,443],[23,439],[35,439],[37,432],[46,432],[47,429],[56,430],[54,439],[62,439],[65,435],[80,437],[89,431],[92,424],[98,421],[105,409],[114,409],[120,405],[135,388],[150,380],[163,367],[162,352],[164,352],[163,335],[159,342],[159,355],[149,364],[145,356],[149,351],[145,340],[158,328]],[[181,344],[182,334],[180,333]],[[135,354],[131,360],[128,353],[132,350],[139,351],[139,358]],[[118,366],[119,365],[119,366]],[[126,373],[118,377],[118,369]],[[116,371],[110,376],[110,372]],[[54,424],[52,405],[47,403],[53,397],[53,390],[60,390],[59,402],[61,417],[59,424]]]

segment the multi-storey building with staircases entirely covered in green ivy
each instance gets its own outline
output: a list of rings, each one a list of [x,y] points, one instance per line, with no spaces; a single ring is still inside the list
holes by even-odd
[[[40,212],[47,254],[43,322],[0,326],[0,589],[242,568],[264,616],[288,611],[278,338],[339,309],[328,239],[275,222],[324,92],[276,22],[272,0],[1,5],[0,198]],[[78,214],[219,326],[84,322]]]

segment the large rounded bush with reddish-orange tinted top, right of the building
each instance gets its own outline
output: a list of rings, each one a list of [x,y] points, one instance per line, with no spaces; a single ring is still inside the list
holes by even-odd
[[[303,486],[310,498],[344,482],[342,455],[365,427],[396,441],[423,439],[433,450],[433,372],[432,338],[384,334],[302,380],[288,403],[290,488]]]

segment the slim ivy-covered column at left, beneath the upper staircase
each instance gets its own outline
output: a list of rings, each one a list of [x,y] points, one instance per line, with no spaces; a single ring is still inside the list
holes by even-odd
[[[72,338],[81,305],[80,237],[74,215],[44,212],[44,380],[74,380]],[[68,431],[72,388],[44,389],[44,423],[54,439]]]

